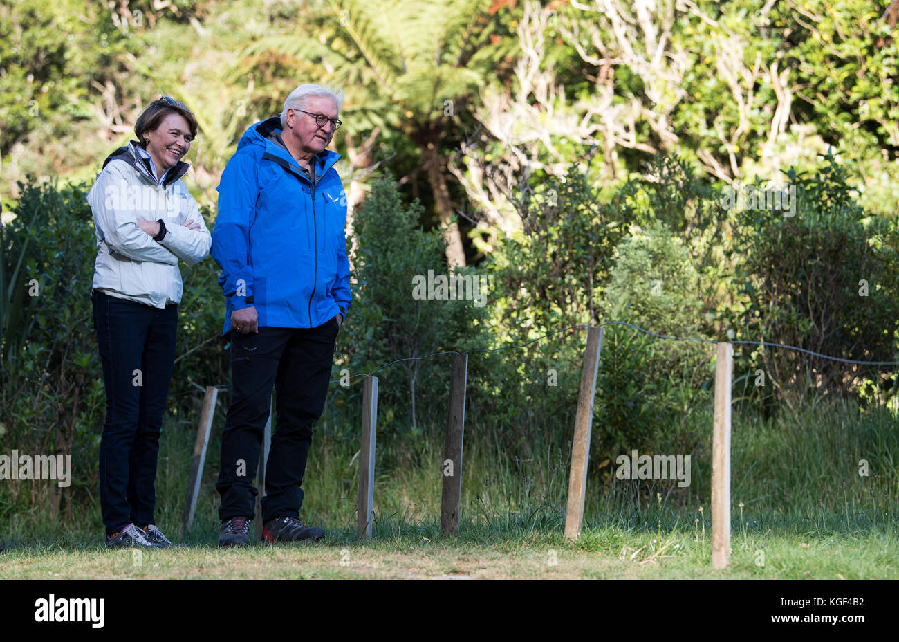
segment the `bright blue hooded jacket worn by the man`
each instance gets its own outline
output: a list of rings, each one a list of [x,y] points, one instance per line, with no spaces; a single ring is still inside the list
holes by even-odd
[[[247,129],[218,184],[212,257],[221,267],[225,325],[255,306],[259,326],[316,327],[350,309],[346,196],[325,150],[315,183],[280,140],[280,119]]]

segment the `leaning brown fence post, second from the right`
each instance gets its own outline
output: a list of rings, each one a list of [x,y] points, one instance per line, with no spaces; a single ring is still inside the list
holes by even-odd
[[[587,331],[587,348],[583,352],[581,389],[577,397],[574,417],[574,441],[571,449],[571,474],[568,477],[568,507],[565,511],[565,539],[581,537],[583,504],[587,495],[587,470],[590,461],[590,433],[593,424],[593,397],[596,394],[596,373],[600,366],[602,328]]]

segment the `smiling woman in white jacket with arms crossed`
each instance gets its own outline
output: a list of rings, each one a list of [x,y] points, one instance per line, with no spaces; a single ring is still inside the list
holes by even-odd
[[[200,263],[211,237],[182,183],[197,120],[163,96],[138,117],[138,135],[103,163],[87,201],[99,251],[93,326],[106,388],[100,504],[106,545],[166,548],[156,528],[156,459],[172,379],[178,259]]]

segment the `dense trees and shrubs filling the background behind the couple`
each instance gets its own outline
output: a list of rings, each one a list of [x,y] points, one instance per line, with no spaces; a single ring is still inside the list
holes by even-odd
[[[594,404],[590,474],[608,489],[621,452],[708,454],[710,342],[899,359],[899,5],[640,7],[0,2],[0,451],[76,463],[67,490],[0,486],[0,517],[93,501],[104,399],[85,181],[159,94],[197,115],[187,181],[212,227],[246,127],[302,82],[346,90],[334,149],[353,303],[327,439],[356,439],[360,376],[374,373],[378,443],[409,460],[439,450],[449,356],[422,358],[475,351],[469,434],[503,466],[563,457],[584,326],[627,322],[604,325]],[[795,188],[789,215],[725,198],[775,185]],[[191,429],[205,386],[227,405],[217,272],[182,265],[175,430]],[[485,305],[414,296],[429,274],[486,279]],[[734,378],[760,421],[822,397],[895,413],[899,398],[895,367],[752,344],[736,345]]]

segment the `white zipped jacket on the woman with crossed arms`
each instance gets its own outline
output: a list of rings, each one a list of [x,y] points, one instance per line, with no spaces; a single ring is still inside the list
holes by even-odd
[[[179,161],[158,184],[133,140],[106,159],[87,195],[99,248],[94,289],[153,308],[181,302],[178,259],[200,263],[212,245],[197,202],[181,180],[189,167]],[[138,220],[160,218],[166,233],[156,242],[138,227]],[[191,219],[200,229],[182,227]]]

